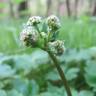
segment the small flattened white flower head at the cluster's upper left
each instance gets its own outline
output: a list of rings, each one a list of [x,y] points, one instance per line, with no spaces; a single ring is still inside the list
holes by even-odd
[[[41,21],[42,21],[41,17],[39,17],[39,16],[33,16],[33,17],[30,17],[29,18],[29,20],[27,22],[27,25],[28,26],[34,26],[36,24],[41,23]]]

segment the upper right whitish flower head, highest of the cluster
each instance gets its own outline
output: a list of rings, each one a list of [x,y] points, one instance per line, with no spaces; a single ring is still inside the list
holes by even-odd
[[[60,21],[55,15],[51,15],[47,18],[47,24],[51,30],[60,28]]]

